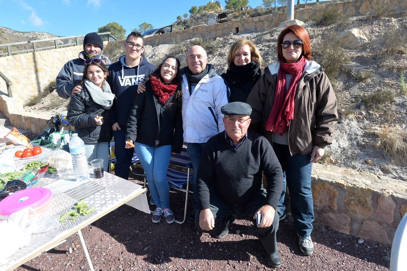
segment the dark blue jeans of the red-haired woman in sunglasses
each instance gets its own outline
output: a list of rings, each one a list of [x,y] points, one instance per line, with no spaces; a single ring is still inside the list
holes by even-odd
[[[311,154],[291,156],[288,145],[273,143],[273,149],[284,173],[284,184],[277,211],[284,214],[286,184],[290,191],[291,214],[296,232],[304,237],[311,236],[314,221],[314,206],[311,191]]]

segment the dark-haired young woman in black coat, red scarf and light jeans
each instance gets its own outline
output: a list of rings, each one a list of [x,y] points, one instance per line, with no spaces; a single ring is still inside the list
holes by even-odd
[[[175,56],[162,61],[149,76],[146,91],[136,96],[127,121],[125,147],[134,147],[146,173],[156,205],[154,223],[162,216],[167,223],[174,221],[166,172],[171,151],[180,153],[183,142],[179,65]]]

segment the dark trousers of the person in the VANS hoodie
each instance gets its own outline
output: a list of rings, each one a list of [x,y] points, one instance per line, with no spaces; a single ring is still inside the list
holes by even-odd
[[[126,132],[127,130],[113,131],[114,137],[114,156],[116,156],[117,162],[114,165],[114,174],[125,180],[129,179],[129,167],[131,164],[131,158],[133,157],[134,149],[126,149]]]

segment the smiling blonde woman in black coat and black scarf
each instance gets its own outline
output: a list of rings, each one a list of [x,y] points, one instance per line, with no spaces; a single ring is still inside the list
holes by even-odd
[[[228,54],[228,69],[221,75],[229,85],[229,102],[246,102],[250,91],[263,74],[262,61],[252,41],[239,39],[232,44]]]

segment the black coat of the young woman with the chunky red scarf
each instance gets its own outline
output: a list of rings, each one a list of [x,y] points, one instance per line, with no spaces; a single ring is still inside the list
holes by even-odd
[[[136,96],[133,109],[127,121],[126,140],[132,140],[152,147],[172,145],[172,151],[182,150],[184,132],[181,108],[171,105],[174,95],[161,105],[157,95],[146,82],[146,91]]]

